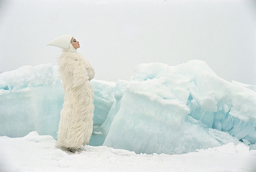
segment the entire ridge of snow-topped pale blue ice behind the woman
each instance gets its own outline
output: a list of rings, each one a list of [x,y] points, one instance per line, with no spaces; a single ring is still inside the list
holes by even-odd
[[[56,139],[64,97],[57,71],[47,64],[0,74],[0,136],[37,131]],[[228,142],[255,149],[255,85],[225,81],[200,60],[140,64],[135,72],[130,81],[91,81],[90,145],[146,154],[182,154]]]

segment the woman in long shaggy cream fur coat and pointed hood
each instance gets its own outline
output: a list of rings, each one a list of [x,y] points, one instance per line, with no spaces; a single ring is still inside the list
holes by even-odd
[[[80,44],[71,35],[56,38],[47,45],[63,49],[58,63],[65,97],[56,147],[75,152],[89,143],[93,131],[94,92],[90,80],[94,68],[77,53]]]

